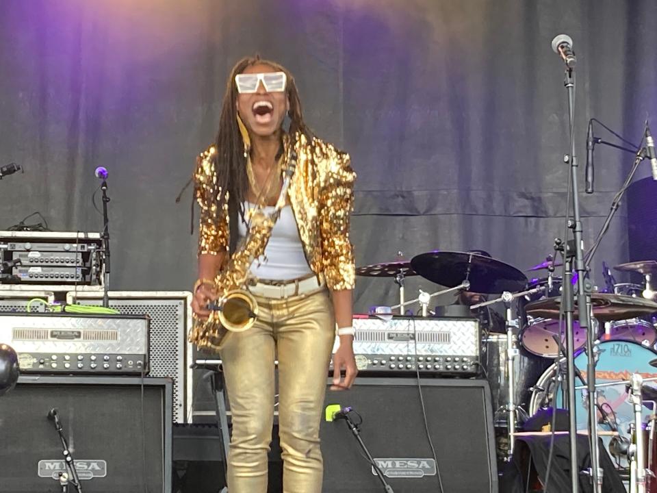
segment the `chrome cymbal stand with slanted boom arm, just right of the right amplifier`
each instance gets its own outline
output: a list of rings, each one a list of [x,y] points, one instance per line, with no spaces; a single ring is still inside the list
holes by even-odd
[[[488,305],[493,305],[493,303],[504,303],[504,327],[506,328],[506,426],[508,433],[508,453],[505,457],[506,462],[511,461],[511,456],[515,449],[515,429],[517,427],[517,404],[515,403],[515,363],[519,356],[518,348],[515,344],[516,338],[513,335],[513,313],[511,312],[511,302],[520,298],[521,296],[526,296],[528,294],[534,294],[541,292],[543,290],[542,286],[533,288],[530,290],[518,292],[511,294],[508,291],[504,291],[499,298],[484,301],[483,303],[478,303],[470,307],[471,310],[487,307]]]

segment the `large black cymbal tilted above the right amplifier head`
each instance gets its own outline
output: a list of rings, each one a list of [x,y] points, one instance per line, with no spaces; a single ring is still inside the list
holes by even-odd
[[[467,252],[433,251],[415,255],[411,267],[424,279],[447,288],[470,281],[469,292],[482,294],[517,292],[527,284],[527,277],[500,260]]]

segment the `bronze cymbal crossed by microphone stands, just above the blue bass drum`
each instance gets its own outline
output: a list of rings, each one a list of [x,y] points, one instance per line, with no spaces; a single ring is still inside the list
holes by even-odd
[[[577,299],[575,303],[577,305]],[[621,294],[593,293],[591,294],[591,304],[593,305],[593,316],[599,322],[626,320],[657,312],[657,303],[654,301]],[[525,305],[528,315],[542,318],[559,318],[560,308],[561,296],[532,301]],[[575,316],[578,316],[577,306],[575,307]]]

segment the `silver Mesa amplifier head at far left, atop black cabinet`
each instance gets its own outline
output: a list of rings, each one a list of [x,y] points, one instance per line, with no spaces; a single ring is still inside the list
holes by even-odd
[[[18,353],[21,373],[114,373],[149,370],[146,315],[0,313],[0,340]]]

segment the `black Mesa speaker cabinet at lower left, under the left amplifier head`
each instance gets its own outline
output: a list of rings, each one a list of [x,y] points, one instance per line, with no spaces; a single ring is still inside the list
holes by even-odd
[[[62,491],[51,409],[84,492],[171,492],[170,379],[21,376],[0,399],[1,493]]]

